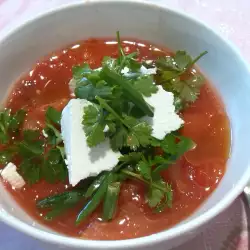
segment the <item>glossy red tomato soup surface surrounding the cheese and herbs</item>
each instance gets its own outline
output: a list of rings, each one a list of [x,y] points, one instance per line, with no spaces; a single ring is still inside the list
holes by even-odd
[[[168,50],[139,41],[123,41],[125,52],[138,50],[140,59],[156,59]],[[72,66],[86,62],[91,68],[101,65],[104,56],[117,57],[117,44],[110,40],[90,39],[68,46],[39,61],[13,87],[6,107],[28,111],[24,128],[41,129],[48,106],[62,110],[72,98],[69,81]],[[41,181],[22,190],[8,190],[34,220],[73,237],[97,240],[120,240],[142,237],[165,230],[192,214],[214,191],[226,168],[230,150],[230,127],[223,104],[209,82],[201,89],[198,100],[182,113],[182,134],[192,138],[197,147],[163,173],[174,190],[173,206],[155,214],[144,199],[144,184],[126,181],[122,184],[116,217],[101,220],[97,211],[79,226],[75,225],[81,204],[53,221],[44,221],[36,201],[70,188],[68,183],[48,184]]]

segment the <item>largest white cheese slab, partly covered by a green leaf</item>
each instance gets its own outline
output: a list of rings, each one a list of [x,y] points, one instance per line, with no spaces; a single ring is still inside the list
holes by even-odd
[[[82,119],[84,107],[90,104],[86,100],[72,99],[62,111],[62,138],[67,156],[69,183],[72,186],[89,176],[111,170],[121,156],[110,148],[109,140],[96,147],[88,147]]]

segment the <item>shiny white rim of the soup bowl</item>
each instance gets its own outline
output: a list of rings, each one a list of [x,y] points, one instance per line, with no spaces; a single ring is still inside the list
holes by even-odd
[[[145,2],[144,0],[89,0],[84,2],[74,2],[69,4],[63,4],[61,6],[58,6],[56,8],[47,10],[45,12],[42,12],[38,14],[35,17],[28,18],[18,26],[15,26],[15,28],[11,28],[10,30],[7,30],[7,32],[3,32],[3,35],[0,37],[0,43],[5,41],[9,36],[16,33],[18,30],[21,30],[24,26],[28,26],[32,22],[37,22],[43,18],[46,18],[47,16],[53,15],[57,12],[60,12],[65,9],[75,8],[77,6],[95,6],[97,4],[102,5],[109,5],[109,4],[128,4],[128,5],[137,5],[140,6],[146,6],[148,8],[157,8],[159,11],[162,12],[169,12],[176,16],[179,16],[180,18],[184,18],[186,20],[189,20],[199,26],[201,26],[204,30],[207,32],[213,33],[218,40],[221,40],[225,45],[227,45],[231,51],[234,52],[234,54],[238,57],[239,61],[242,63],[242,65],[245,67],[246,71],[249,72],[250,75],[250,65],[246,62],[246,60],[241,56],[240,51],[238,48],[231,43],[230,41],[224,39],[217,31],[210,28],[208,25],[206,25],[204,22],[197,20],[196,18],[193,18],[187,13],[184,13],[181,10],[176,10],[169,8],[167,6],[164,6],[161,3],[152,3],[152,2]],[[7,225],[24,232],[27,235],[30,235],[36,239],[39,239],[41,241],[45,241],[52,244],[57,245],[65,245],[69,247],[87,247],[89,249],[119,249],[121,246],[122,248],[130,248],[130,247],[146,247],[153,244],[157,244],[163,241],[167,241],[170,239],[173,239],[177,236],[180,236],[182,234],[187,234],[192,232],[193,230],[199,228],[212,218],[214,218],[216,215],[218,215],[220,212],[222,212],[224,209],[226,209],[236,198],[240,195],[240,193],[243,191],[245,185],[247,184],[248,180],[250,179],[250,165],[247,166],[247,170],[245,175],[242,176],[242,178],[238,181],[238,183],[235,185],[232,192],[225,195],[220,202],[218,202],[213,209],[209,209],[208,211],[204,212],[202,215],[199,215],[197,218],[192,219],[191,221],[182,224],[182,225],[176,225],[174,228],[170,228],[166,231],[158,232],[156,234],[152,234],[149,236],[144,236],[141,238],[133,238],[133,239],[126,239],[126,240],[84,240],[84,239],[77,239],[69,236],[54,234],[50,232],[45,232],[41,229],[35,228],[32,225],[26,224],[16,217],[12,216],[11,214],[8,214],[7,212],[0,212],[0,219],[6,223]],[[6,216],[7,213],[7,216]],[[190,231],[192,230],[192,231]]]

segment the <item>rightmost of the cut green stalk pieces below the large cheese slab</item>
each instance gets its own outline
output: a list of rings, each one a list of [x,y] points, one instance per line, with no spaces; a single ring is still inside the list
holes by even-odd
[[[108,184],[107,192],[103,202],[103,215],[105,221],[112,220],[115,216],[118,198],[120,194],[120,182],[113,182]]]

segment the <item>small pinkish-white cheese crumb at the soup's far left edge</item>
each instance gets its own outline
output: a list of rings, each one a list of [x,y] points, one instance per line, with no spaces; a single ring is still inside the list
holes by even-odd
[[[12,162],[9,162],[2,170],[1,176],[14,189],[20,189],[25,185],[23,177],[16,171],[16,165]]]

